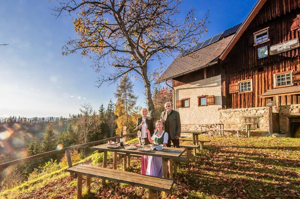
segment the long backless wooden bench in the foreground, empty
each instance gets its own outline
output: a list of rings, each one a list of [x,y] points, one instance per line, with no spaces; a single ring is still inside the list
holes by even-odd
[[[90,191],[91,177],[130,184],[132,186],[142,186],[149,189],[149,198],[158,199],[158,191],[170,192],[174,184],[171,179],[146,176],[138,173],[119,171],[92,165],[76,165],[67,171],[77,174],[77,198],[82,197],[82,176],[86,176],[86,188]]]

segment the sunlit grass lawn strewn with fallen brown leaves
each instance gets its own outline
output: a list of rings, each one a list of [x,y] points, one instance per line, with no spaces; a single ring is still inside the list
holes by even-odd
[[[118,162],[118,169],[122,169],[122,159],[118,158]],[[108,168],[112,168],[112,165],[110,157]],[[131,158],[129,171],[140,171],[138,158]],[[174,180],[173,192],[167,194],[166,198],[300,198],[300,139],[213,137],[210,143],[205,144],[204,151],[194,156],[187,166],[182,166]],[[30,190],[22,189],[10,196],[1,196],[0,193],[0,196],[76,196],[76,179],[69,175],[54,176],[43,183],[36,185],[36,188],[31,186]],[[102,187],[101,180],[95,178],[92,178],[91,188],[92,192],[84,194],[84,198],[148,197],[144,188],[115,182]]]

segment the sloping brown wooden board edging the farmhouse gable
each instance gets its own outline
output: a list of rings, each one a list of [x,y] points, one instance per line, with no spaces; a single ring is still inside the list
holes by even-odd
[[[231,51],[233,46],[236,44],[236,42],[239,40],[239,38],[242,36],[242,34],[245,32],[245,30],[248,28],[249,24],[252,22],[252,20],[255,18],[257,13],[260,11],[262,6],[266,3],[267,0],[258,0],[255,6],[252,8],[251,12],[243,22],[242,26],[237,30],[236,34],[232,38],[231,42],[228,44],[226,49],[222,52],[220,55],[220,59],[224,60],[228,53]]]

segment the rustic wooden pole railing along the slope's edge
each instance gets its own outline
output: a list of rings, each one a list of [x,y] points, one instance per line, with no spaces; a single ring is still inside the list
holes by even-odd
[[[68,146],[68,147],[64,147],[62,149],[48,151],[48,152],[41,153],[41,154],[38,154],[38,155],[25,157],[25,158],[21,158],[21,159],[10,161],[10,162],[5,162],[3,164],[0,164],[0,170],[6,168],[8,166],[12,166],[12,165],[19,164],[19,163],[26,162],[26,161],[32,161],[34,159],[37,159],[37,158],[40,158],[40,157],[50,156],[52,154],[62,152],[62,151],[66,151],[68,166],[70,168],[70,167],[72,167],[72,161],[71,161],[71,156],[70,156],[70,152],[69,152],[70,149],[78,149],[78,148],[81,148],[81,147],[85,147],[85,146],[89,146],[89,145],[96,145],[96,144],[100,144],[100,143],[103,143],[103,142],[106,142],[106,141],[109,141],[109,140],[115,140],[115,139],[119,142],[119,139],[121,137],[127,137],[127,136],[131,136],[131,135],[137,135],[137,132],[125,134],[123,136],[110,137],[110,138],[106,138],[106,139],[98,140],[98,141],[94,141],[94,142],[88,142],[88,143],[84,143],[84,144],[81,144],[81,145]]]

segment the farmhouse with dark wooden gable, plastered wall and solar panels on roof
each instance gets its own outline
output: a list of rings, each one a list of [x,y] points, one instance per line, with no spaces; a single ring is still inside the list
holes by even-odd
[[[172,80],[183,130],[253,123],[252,135],[300,137],[300,1],[259,0],[245,21],[180,54]]]

